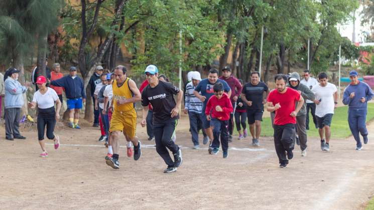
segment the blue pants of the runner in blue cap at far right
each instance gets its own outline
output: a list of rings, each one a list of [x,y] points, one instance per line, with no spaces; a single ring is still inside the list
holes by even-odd
[[[348,124],[350,132],[356,140],[356,145],[361,144],[360,135],[367,136],[366,129],[366,109],[348,109]]]

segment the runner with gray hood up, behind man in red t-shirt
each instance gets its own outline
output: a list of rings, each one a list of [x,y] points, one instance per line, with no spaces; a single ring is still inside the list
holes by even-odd
[[[301,156],[306,156],[307,152],[307,134],[305,129],[306,109],[305,100],[314,100],[313,92],[305,85],[300,83],[300,76],[293,72],[289,77],[288,87],[298,91],[304,99],[304,104],[296,115],[296,143],[300,145]],[[297,104],[297,103],[296,103]],[[297,105],[296,105],[297,106]]]

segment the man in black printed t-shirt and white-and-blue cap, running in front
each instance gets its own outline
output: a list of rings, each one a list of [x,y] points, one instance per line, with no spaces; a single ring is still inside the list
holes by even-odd
[[[179,106],[183,99],[183,91],[173,84],[158,79],[158,69],[154,65],[146,68],[145,74],[149,82],[142,92],[143,118],[141,125],[146,126],[148,105],[153,107],[153,132],[155,134],[156,151],[164,159],[168,167],[164,173],[177,170],[182,164],[182,151],[171,137],[177,125]],[[177,95],[175,102],[173,95]],[[174,161],[169,155],[168,148],[174,154]]]

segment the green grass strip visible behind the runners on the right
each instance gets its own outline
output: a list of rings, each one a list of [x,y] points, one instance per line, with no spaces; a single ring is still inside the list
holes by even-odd
[[[351,135],[348,126],[348,106],[338,107],[334,111],[331,122],[331,138],[346,138]],[[374,118],[374,103],[367,104],[366,123]],[[311,137],[319,137],[318,129],[314,128],[312,115],[309,113],[309,128],[307,135]],[[247,126],[249,129],[249,126]],[[249,131],[249,130],[248,130]],[[234,132],[237,134],[236,128]],[[270,117],[263,118],[261,136],[273,136],[274,130]]]

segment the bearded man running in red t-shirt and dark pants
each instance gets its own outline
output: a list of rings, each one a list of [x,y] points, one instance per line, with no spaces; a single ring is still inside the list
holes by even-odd
[[[295,146],[296,115],[304,104],[300,93],[286,87],[286,84],[286,75],[277,74],[275,76],[276,89],[269,93],[267,103],[267,110],[269,112],[275,111],[274,144],[281,168],[286,167],[288,160],[294,156],[292,150]],[[297,101],[299,103],[295,109]]]

